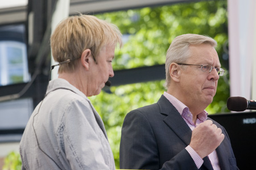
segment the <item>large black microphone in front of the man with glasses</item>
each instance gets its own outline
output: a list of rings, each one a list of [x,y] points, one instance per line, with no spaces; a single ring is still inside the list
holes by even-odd
[[[256,110],[256,101],[246,100],[244,97],[229,97],[226,105],[230,111],[242,112],[246,109]]]

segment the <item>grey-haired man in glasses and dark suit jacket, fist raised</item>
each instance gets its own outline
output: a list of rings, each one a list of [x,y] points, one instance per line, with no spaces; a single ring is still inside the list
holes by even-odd
[[[158,103],[135,109],[123,122],[120,168],[238,169],[225,129],[208,118],[221,69],[217,42],[186,34],[166,56],[166,89]]]

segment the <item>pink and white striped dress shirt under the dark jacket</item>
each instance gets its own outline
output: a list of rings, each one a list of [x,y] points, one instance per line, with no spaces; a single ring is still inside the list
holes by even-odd
[[[176,99],[176,97],[168,94],[167,92],[164,92],[163,95],[166,97],[166,99],[170,101],[172,105],[174,105],[174,107],[180,113],[181,117],[183,117],[184,121],[187,123],[191,130],[195,129],[197,125],[207,120],[208,113],[206,111],[203,111],[197,114],[196,124],[194,124],[192,120],[192,113],[189,111],[186,105],[184,105],[181,101]],[[191,146],[188,145],[187,147],[185,147],[185,149],[188,151],[188,153],[191,155],[192,159],[196,163],[196,167],[200,168],[201,165],[203,165],[204,160],[197,154],[195,150],[193,150]],[[220,165],[218,164],[218,156],[215,150],[208,155],[208,158],[212,163],[213,169],[220,170]]]

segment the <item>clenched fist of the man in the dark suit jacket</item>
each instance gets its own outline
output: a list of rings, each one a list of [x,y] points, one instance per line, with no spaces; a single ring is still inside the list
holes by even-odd
[[[193,131],[189,146],[203,159],[212,153],[223,141],[225,135],[211,120],[199,124]]]

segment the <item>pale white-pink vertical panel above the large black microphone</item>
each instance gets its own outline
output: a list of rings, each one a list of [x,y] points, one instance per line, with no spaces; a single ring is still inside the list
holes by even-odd
[[[230,96],[256,100],[256,1],[228,0]]]

